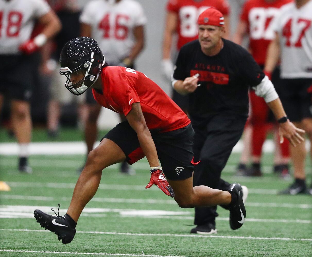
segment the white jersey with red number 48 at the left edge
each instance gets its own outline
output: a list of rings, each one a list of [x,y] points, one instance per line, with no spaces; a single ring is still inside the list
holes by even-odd
[[[0,0],[0,54],[19,54],[37,18],[50,11],[44,0]]]

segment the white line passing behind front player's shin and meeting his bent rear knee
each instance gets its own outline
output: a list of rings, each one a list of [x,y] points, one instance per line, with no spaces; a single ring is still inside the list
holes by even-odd
[[[70,197],[45,197],[45,196],[25,196],[2,194],[2,199],[18,199],[18,200],[35,200],[35,201],[69,201]],[[149,204],[177,204],[174,200],[156,200],[156,199],[136,199],[136,198],[100,198],[94,197],[91,202],[119,202],[119,203],[149,203]],[[311,204],[295,204],[295,203],[275,203],[275,202],[246,202],[246,206],[250,207],[281,207],[281,208],[300,208],[311,209]]]

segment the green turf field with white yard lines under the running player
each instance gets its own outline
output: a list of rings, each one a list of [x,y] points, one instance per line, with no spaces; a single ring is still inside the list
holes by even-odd
[[[222,173],[246,185],[246,222],[229,227],[228,211],[218,208],[217,234],[189,234],[193,209],[182,209],[149,182],[146,159],[134,164],[136,175],[120,174],[118,165],[104,170],[100,188],[87,204],[71,244],[36,223],[36,208],[64,215],[83,155],[33,155],[33,174],[20,174],[16,156],[0,155],[0,256],[312,256],[312,196],[276,195],[290,182],[271,173],[272,156],[264,156],[262,178],[234,176],[239,159],[232,154]],[[307,181],[311,183],[311,165]]]

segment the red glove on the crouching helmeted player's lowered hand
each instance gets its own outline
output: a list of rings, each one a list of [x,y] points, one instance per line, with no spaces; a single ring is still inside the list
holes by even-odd
[[[152,185],[156,185],[166,195],[170,195],[171,197],[175,196],[173,189],[170,187],[168,181],[163,175],[162,167],[152,167],[150,170],[150,173],[151,173],[151,179],[149,180],[149,183],[147,184],[145,188],[150,188]]]

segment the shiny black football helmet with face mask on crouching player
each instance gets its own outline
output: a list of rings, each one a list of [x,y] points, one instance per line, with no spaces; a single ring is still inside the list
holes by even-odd
[[[105,57],[96,40],[77,37],[64,45],[60,55],[60,74],[67,77],[65,87],[75,95],[81,95],[98,79]],[[71,83],[70,74],[82,72],[85,76],[77,83]]]

